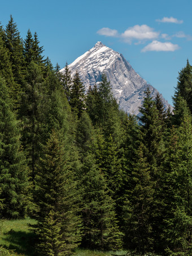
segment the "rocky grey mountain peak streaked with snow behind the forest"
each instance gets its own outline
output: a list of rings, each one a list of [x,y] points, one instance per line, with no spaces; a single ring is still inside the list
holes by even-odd
[[[106,73],[107,79],[112,86],[120,109],[138,115],[138,107],[141,106],[144,91],[149,86],[152,97],[156,96],[158,90],[147,84],[126,61],[122,54],[117,53],[109,47],[97,42],[95,46],[69,64],[72,76],[76,70],[79,72],[81,81],[87,90],[89,86],[101,81],[102,73]],[[64,68],[60,70],[64,72]],[[169,103],[162,97],[165,108]]]

